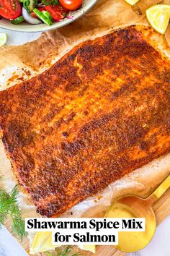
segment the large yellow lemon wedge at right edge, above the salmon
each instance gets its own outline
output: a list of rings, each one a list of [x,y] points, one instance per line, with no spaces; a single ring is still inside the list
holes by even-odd
[[[169,25],[170,19],[170,5],[169,4],[156,4],[146,10],[146,17],[151,26],[164,34]]]

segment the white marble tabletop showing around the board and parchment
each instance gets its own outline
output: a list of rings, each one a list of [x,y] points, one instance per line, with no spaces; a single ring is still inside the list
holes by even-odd
[[[40,33],[17,33],[0,28],[0,33],[6,33],[6,45],[19,45],[37,39]],[[156,229],[152,241],[140,252],[128,253],[127,256],[169,256],[170,255],[170,216]],[[22,247],[3,227],[0,229],[0,256],[26,256]],[[97,255],[102,256],[102,255]],[[107,255],[104,255],[107,256]]]

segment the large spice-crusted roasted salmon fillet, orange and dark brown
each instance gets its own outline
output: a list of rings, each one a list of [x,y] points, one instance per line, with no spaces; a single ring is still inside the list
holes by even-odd
[[[42,216],[170,152],[169,66],[132,26],[0,93],[6,152]]]

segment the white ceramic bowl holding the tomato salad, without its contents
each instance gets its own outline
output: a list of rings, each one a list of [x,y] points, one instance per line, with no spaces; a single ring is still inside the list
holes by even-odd
[[[73,20],[65,18],[60,22],[53,22],[52,26],[48,26],[46,24],[30,25],[27,22],[22,22],[17,25],[14,25],[9,20],[2,19],[0,20],[0,27],[5,28],[7,30],[15,30],[21,32],[42,32],[46,30],[53,30],[59,27],[66,26],[74,20],[79,19],[79,17],[84,15],[85,12],[87,12],[91,7],[94,6],[95,3],[97,3],[97,1],[98,0],[84,0],[82,7],[80,9],[69,13],[69,15],[73,17]]]

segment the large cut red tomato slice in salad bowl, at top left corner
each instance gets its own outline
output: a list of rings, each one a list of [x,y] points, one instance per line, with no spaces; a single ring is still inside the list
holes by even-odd
[[[16,19],[22,13],[21,4],[17,0],[0,0],[0,15],[6,19]]]

